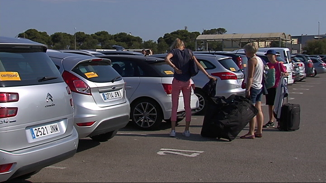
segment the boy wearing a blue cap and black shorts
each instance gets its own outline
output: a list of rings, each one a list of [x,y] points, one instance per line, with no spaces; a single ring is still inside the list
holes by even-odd
[[[276,61],[276,51],[274,49],[269,49],[265,53],[268,60],[270,61],[267,63],[267,66],[270,69],[275,69],[275,85],[274,87],[267,89],[268,94],[266,94],[266,105],[268,105],[268,114],[269,114],[269,121],[263,125],[263,128],[273,128],[274,127],[274,100],[276,96],[276,88],[278,86],[278,83],[281,79],[281,76],[288,76],[289,74],[286,71],[285,66],[282,62]]]

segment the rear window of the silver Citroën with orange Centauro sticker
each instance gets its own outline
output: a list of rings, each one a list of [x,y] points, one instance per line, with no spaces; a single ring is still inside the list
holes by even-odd
[[[50,57],[43,52],[43,48],[10,47],[0,47],[0,87],[64,82]]]

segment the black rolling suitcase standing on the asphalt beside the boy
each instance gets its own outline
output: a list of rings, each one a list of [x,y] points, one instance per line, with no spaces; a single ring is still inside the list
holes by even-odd
[[[295,131],[300,128],[300,105],[288,103],[288,96],[281,107],[278,125],[280,131]]]

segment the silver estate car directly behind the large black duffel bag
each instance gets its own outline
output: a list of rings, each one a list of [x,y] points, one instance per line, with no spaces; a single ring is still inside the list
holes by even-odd
[[[167,54],[156,54],[153,57],[165,58]],[[216,95],[225,96],[232,94],[245,96],[245,89],[241,88],[244,74],[233,62],[232,57],[212,54],[194,53],[197,60],[206,71],[217,77]],[[206,110],[207,94],[202,87],[208,82],[207,76],[201,71],[192,77],[195,83],[195,94],[199,98],[200,109],[196,114],[204,114]]]

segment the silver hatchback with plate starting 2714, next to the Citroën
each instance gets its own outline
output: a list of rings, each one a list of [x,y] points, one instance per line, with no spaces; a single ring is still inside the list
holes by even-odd
[[[109,59],[47,52],[70,87],[79,138],[106,141],[129,122],[125,81]]]

